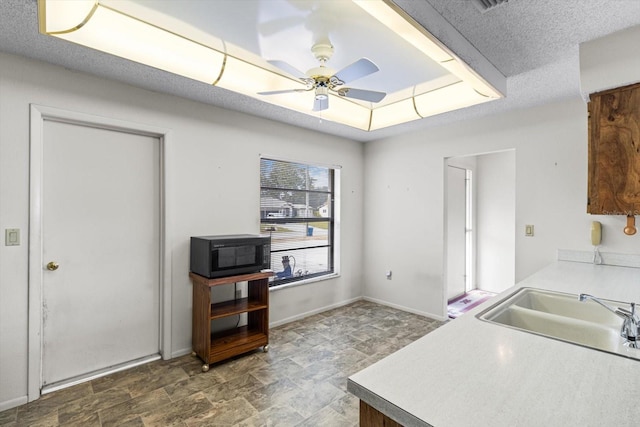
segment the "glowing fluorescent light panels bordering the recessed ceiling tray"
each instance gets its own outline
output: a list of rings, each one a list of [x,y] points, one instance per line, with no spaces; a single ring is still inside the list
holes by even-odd
[[[446,70],[444,75],[389,93],[380,103],[347,99],[330,92],[329,108],[314,112],[311,108],[315,93],[305,92],[306,86],[299,79],[255,54],[204,34],[201,29],[191,29],[189,23],[172,21],[171,17],[141,7],[135,1],[38,0],[38,8],[43,34],[364,131],[503,96],[393,2],[354,0],[354,3],[417,48],[425,58],[437,62]],[[301,91],[258,95],[265,90],[289,89]]]

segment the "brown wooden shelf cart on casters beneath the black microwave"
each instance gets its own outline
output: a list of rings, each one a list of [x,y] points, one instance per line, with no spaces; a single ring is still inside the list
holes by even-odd
[[[258,347],[269,350],[269,277],[273,272],[242,274],[207,279],[189,273],[193,282],[193,352],[204,362],[202,371],[211,363],[246,353]],[[248,296],[231,301],[211,301],[211,287],[247,282]],[[247,313],[247,324],[221,332],[211,332],[211,321]]]

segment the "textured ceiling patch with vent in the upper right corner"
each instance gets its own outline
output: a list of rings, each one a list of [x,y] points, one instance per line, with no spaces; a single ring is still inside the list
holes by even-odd
[[[578,44],[640,24],[638,0],[511,0],[480,13],[464,0],[428,0],[505,76],[573,55]]]

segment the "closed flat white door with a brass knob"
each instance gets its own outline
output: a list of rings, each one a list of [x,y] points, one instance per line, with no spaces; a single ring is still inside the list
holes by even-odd
[[[42,385],[159,353],[160,140],[45,120]],[[51,268],[55,268],[51,267]]]

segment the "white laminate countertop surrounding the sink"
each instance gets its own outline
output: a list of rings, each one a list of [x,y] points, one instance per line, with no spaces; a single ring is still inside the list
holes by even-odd
[[[520,287],[640,303],[640,269],[558,261],[352,375],[348,390],[407,427],[640,425],[640,361],[475,317]]]

